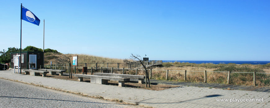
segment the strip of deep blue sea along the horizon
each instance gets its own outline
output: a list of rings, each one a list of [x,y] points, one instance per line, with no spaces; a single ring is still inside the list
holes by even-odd
[[[212,63],[212,64],[229,64],[229,63],[235,63],[235,64],[268,64],[270,61],[193,61],[193,60],[162,60],[162,62],[181,62],[181,63]]]

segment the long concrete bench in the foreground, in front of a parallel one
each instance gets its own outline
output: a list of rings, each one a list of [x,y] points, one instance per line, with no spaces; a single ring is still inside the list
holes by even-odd
[[[78,77],[78,81],[83,81],[83,78],[90,78],[91,83],[97,83],[97,84],[108,84],[108,80],[115,80],[115,81],[118,81],[119,87],[124,87],[125,81],[129,80],[129,78],[109,77],[109,76],[99,76],[99,75],[75,74],[74,76]]]

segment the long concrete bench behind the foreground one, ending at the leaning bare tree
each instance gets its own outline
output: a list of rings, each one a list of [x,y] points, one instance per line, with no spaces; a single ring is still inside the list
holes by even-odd
[[[110,76],[110,77],[124,77],[138,79],[138,83],[143,84],[145,76],[143,75],[127,75],[127,74],[115,74],[115,73],[94,73],[94,75]]]

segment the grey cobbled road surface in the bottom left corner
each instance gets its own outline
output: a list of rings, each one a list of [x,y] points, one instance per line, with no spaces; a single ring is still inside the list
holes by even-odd
[[[16,81],[0,79],[0,107],[55,108],[142,108],[116,102],[83,97]]]

